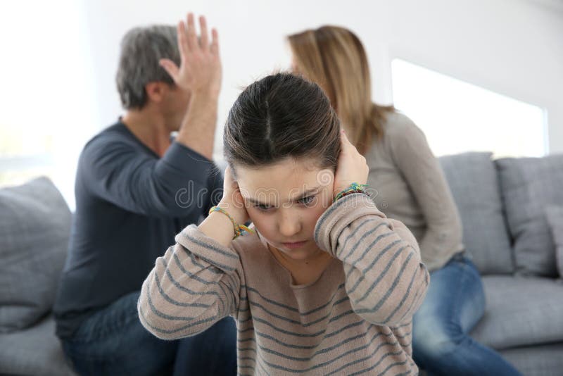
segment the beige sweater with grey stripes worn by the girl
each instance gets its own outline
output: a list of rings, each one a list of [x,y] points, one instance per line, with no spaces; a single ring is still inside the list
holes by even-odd
[[[257,235],[227,248],[190,225],[146,278],[139,318],[178,339],[232,315],[239,375],[417,375],[412,315],[429,273],[412,234],[350,194],[321,215],[315,241],[334,258],[293,285]]]

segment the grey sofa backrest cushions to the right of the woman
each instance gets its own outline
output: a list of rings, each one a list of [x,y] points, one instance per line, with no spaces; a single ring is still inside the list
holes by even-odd
[[[438,158],[460,211],[463,242],[482,274],[558,277],[547,211],[563,206],[563,154]]]

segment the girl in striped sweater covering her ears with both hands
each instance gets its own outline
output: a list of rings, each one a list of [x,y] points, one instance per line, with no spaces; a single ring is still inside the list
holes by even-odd
[[[219,205],[143,284],[144,327],[177,339],[231,315],[241,375],[415,375],[411,319],[429,275],[412,234],[363,192],[365,158],[322,89],[289,74],[254,82],[224,153]],[[248,220],[255,231],[239,236]]]

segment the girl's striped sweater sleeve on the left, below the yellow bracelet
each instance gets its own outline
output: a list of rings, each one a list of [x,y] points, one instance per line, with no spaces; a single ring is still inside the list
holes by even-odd
[[[137,310],[141,324],[161,339],[189,337],[239,306],[239,254],[189,225],[176,236],[143,283]]]

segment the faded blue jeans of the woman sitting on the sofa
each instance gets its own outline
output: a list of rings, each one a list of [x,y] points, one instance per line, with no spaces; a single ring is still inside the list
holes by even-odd
[[[426,299],[412,320],[412,357],[429,375],[520,375],[499,353],[469,337],[483,316],[481,276],[466,256],[431,272]]]

